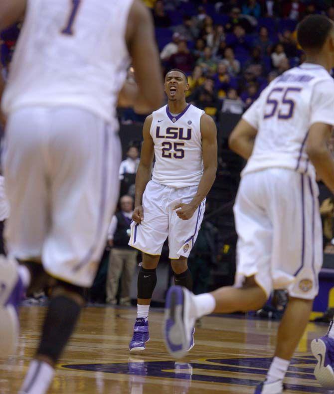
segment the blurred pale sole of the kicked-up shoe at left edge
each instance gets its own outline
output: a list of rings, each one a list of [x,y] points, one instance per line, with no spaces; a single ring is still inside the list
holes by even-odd
[[[0,256],[0,357],[13,355],[17,346],[19,322],[14,306],[7,301],[17,281],[17,264]]]

